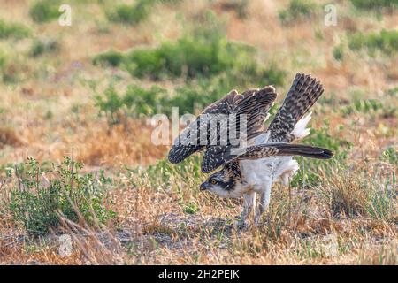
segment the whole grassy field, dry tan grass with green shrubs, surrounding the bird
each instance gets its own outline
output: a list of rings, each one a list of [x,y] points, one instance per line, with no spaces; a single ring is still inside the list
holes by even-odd
[[[68,3],[61,26],[62,1],[0,0],[0,264],[398,263],[396,0]],[[335,156],[237,230],[150,118],[268,84],[280,105],[297,72],[325,86],[304,142]]]

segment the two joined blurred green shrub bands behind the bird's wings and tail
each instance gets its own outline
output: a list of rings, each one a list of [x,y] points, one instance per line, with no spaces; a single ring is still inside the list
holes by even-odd
[[[233,88],[284,84],[287,72],[277,64],[260,63],[255,48],[228,41],[224,27],[211,14],[208,17],[200,28],[187,31],[176,42],[127,53],[109,50],[94,57],[95,65],[126,69],[134,77],[185,80],[172,92],[130,86],[122,95],[110,87],[96,96],[100,112],[108,113],[111,123],[119,120],[115,117],[120,113],[136,116],[158,111],[170,115],[172,107],[178,107],[180,114],[195,113]]]

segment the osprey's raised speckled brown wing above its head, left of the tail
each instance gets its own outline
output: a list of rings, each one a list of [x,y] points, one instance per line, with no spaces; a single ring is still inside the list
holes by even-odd
[[[179,163],[194,152],[207,149],[202,163],[202,171],[210,172],[224,164],[222,158],[246,124],[246,138],[250,139],[263,131],[267,112],[272,107],[277,94],[275,88],[249,89],[238,94],[232,90],[227,96],[210,104],[186,127],[172,145],[169,161]],[[231,115],[233,114],[233,115]],[[241,120],[241,115],[245,115]],[[233,117],[233,119],[229,119]],[[216,125],[216,127],[214,127]],[[214,129],[216,129],[214,131]],[[236,132],[230,132],[230,129]]]

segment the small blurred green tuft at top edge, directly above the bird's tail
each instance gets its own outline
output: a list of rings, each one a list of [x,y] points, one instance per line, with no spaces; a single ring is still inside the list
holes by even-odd
[[[287,9],[279,11],[279,20],[282,24],[293,24],[297,21],[313,19],[317,5],[310,0],[291,0]]]

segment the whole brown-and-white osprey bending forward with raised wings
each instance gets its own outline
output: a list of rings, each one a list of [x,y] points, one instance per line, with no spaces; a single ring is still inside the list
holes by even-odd
[[[232,90],[206,107],[181,132],[170,149],[168,159],[177,164],[194,152],[205,150],[202,172],[222,168],[212,173],[200,189],[221,197],[243,196],[238,224],[245,225],[256,208],[255,224],[258,225],[270,203],[272,183],[281,181],[287,185],[299,169],[294,156],[333,157],[329,149],[291,143],[310,134],[306,126],[311,113],[307,112],[323,92],[319,80],[309,74],[297,73],[283,104],[265,130],[267,112],[278,96],[275,88],[249,89],[242,94]],[[233,119],[226,119],[230,116]],[[232,128],[238,130],[233,132]],[[246,130],[244,134],[241,134],[241,128]],[[237,138],[238,134],[242,137]],[[243,141],[246,144],[242,147]],[[259,203],[256,207],[257,194]]]

